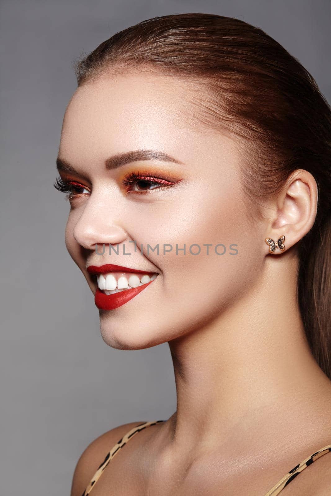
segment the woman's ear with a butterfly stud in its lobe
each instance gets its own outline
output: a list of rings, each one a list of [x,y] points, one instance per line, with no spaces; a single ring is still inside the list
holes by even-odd
[[[314,176],[304,169],[297,169],[270,204],[273,215],[267,222],[265,238],[271,238],[277,246],[278,238],[284,235],[285,250],[291,248],[313,227],[317,205],[318,187]],[[265,252],[269,253],[266,243]],[[282,251],[278,248],[272,252],[279,253]]]

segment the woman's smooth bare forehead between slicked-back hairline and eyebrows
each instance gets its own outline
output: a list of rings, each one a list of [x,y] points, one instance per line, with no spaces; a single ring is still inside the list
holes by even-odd
[[[84,164],[144,148],[162,150],[183,162],[202,157],[205,162],[212,151],[224,153],[232,140],[199,129],[197,122],[191,124],[186,112],[193,97],[190,85],[174,76],[104,74],[72,95],[59,155],[70,163]]]

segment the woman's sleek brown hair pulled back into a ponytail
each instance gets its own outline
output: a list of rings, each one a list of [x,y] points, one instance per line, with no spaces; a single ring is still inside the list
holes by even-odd
[[[331,109],[311,74],[262,29],[205,13],[139,22],[74,69],[78,86],[105,71],[185,79],[199,125],[245,139],[242,186],[258,215],[296,169],[314,176],[318,209],[297,243],[297,298],[313,356],[331,378]]]

